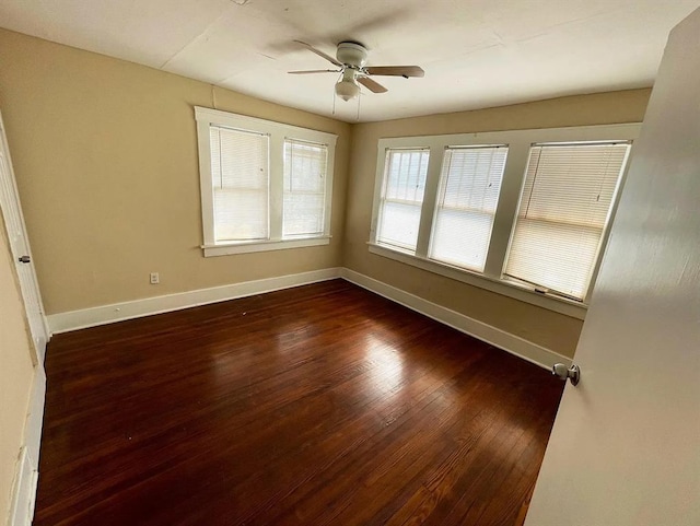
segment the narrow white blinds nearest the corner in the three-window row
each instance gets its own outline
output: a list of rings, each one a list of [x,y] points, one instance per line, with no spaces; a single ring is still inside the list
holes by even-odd
[[[377,243],[416,252],[430,149],[386,151]]]

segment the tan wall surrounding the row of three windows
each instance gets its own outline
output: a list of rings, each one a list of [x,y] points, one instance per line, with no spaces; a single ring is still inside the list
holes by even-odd
[[[343,265],[572,356],[582,322],[493,292],[470,287],[368,252],[377,140],[530,128],[640,122],[651,90],[571,96],[499,108],[357,125],[348,185]]]

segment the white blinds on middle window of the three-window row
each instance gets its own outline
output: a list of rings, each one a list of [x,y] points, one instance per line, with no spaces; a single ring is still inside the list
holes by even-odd
[[[430,257],[483,271],[508,148],[447,148],[431,236]]]

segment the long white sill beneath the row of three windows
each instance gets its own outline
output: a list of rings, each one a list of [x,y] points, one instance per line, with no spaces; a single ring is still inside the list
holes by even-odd
[[[497,294],[547,308],[576,319],[584,319],[586,315],[587,305],[567,300],[565,297],[556,296],[553,294],[535,292],[534,288],[529,288],[525,284],[489,278],[476,272],[470,272],[469,270],[440,264],[432,259],[401,253],[375,243],[368,243],[368,245],[370,253],[372,254],[444,276],[445,278],[462,281],[463,283],[486,289],[488,291],[495,292]]]

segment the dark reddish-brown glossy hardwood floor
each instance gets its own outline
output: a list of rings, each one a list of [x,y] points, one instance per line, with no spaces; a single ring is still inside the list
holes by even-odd
[[[336,280],[55,336],[35,526],[508,525],[563,384]]]

